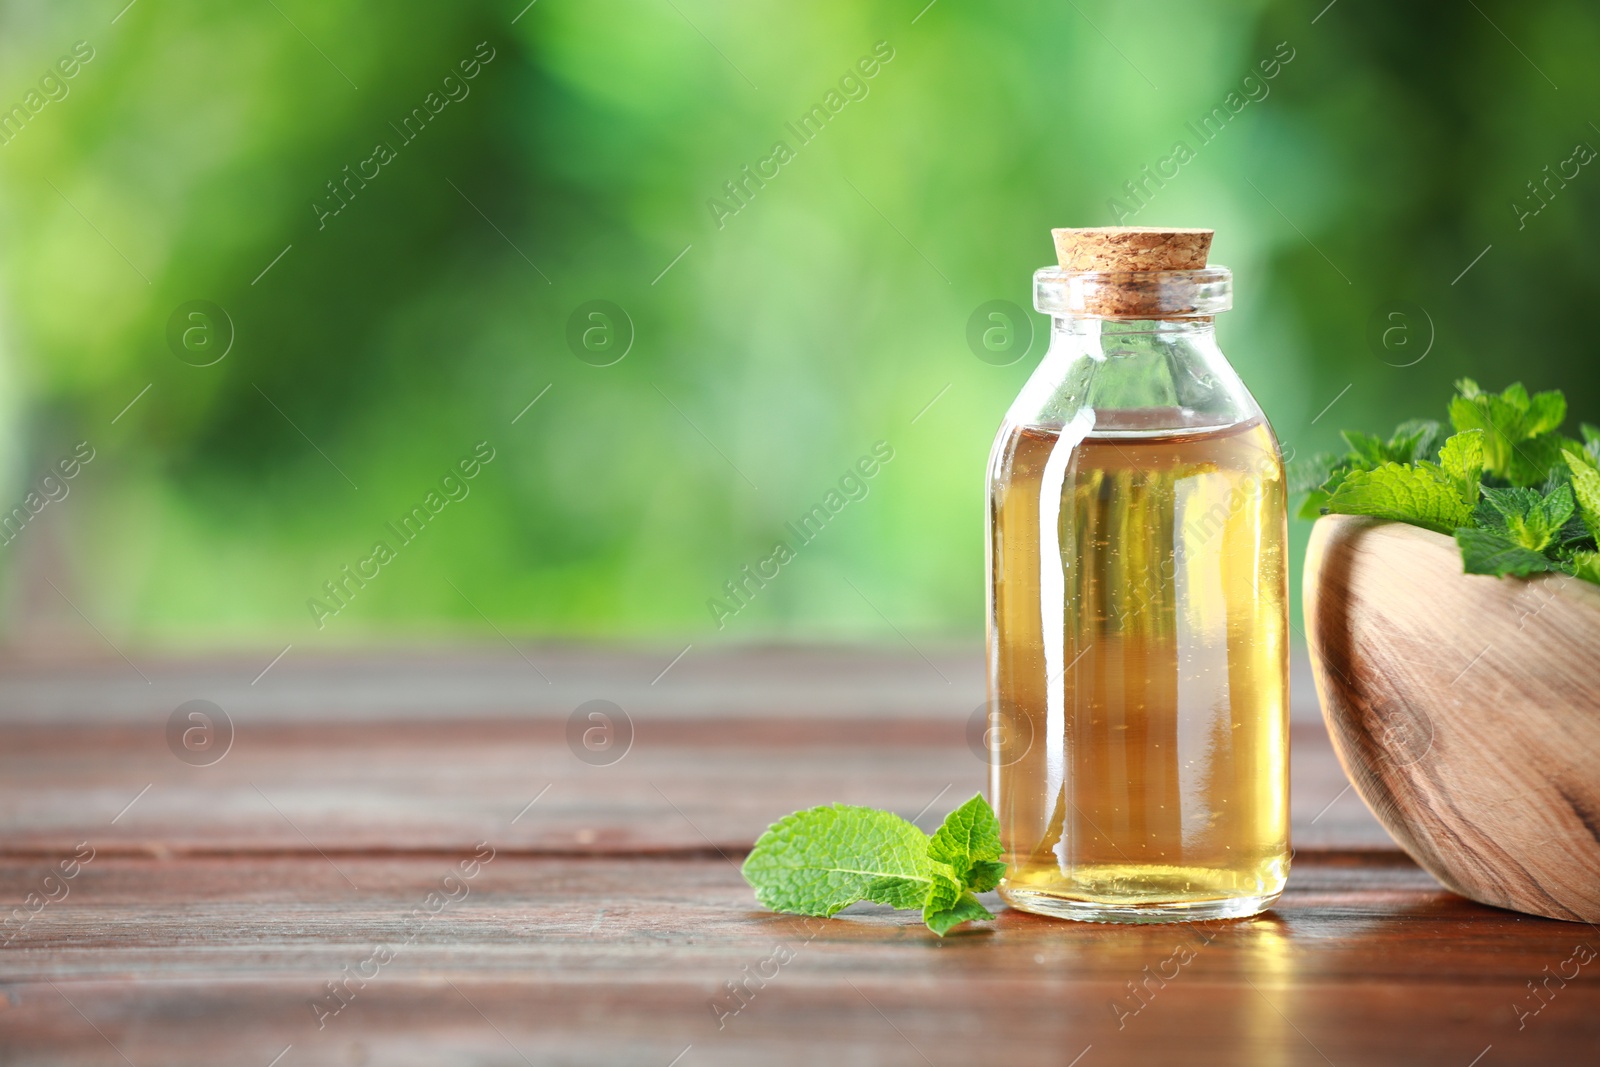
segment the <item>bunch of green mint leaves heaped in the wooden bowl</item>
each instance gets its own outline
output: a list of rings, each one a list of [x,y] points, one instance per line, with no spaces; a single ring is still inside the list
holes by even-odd
[[[1542,571],[1600,584],[1600,430],[1560,432],[1566,398],[1522,382],[1488,394],[1456,382],[1450,424],[1403,422],[1387,442],[1346,432],[1342,456],[1296,470],[1302,517],[1373,515],[1453,534],[1469,574]]]

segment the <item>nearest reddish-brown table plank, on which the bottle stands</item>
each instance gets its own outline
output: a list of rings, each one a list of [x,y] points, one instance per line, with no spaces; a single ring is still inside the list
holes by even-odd
[[[1469,904],[1389,856],[1302,853],[1248,921],[1003,912],[942,942],[874,905],[760,912],[720,859],[501,854],[414,934],[405,917],[459,857],[96,859],[0,952],[0,1056],[266,1067],[291,1046],[280,1067],[666,1067],[693,1046],[678,1067],[954,1065],[1091,1048],[1083,1065],[1466,1067],[1486,1046],[1485,1064],[1600,1049],[1600,961],[1549,1000],[1526,989],[1600,939]],[[37,875],[0,862],[0,891]],[[325,984],[376,945],[392,961],[318,1016]],[[774,953],[741,1006],[726,984]]]

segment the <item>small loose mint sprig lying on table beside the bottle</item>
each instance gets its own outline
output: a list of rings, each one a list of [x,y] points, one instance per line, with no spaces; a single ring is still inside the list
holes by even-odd
[[[982,795],[930,837],[891,811],[824,805],[784,816],[744,861],[755,899],[774,912],[829,917],[858,901],[922,909],[941,937],[994,918],[974,893],[1000,885],[1000,822]]]

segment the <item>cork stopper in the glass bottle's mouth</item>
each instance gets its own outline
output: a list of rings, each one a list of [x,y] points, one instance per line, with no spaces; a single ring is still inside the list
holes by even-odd
[[[1050,234],[1061,269],[1040,275],[1067,286],[1069,314],[1194,318],[1206,306],[1226,310],[1230,275],[1226,267],[1206,267],[1214,230],[1099,226]]]

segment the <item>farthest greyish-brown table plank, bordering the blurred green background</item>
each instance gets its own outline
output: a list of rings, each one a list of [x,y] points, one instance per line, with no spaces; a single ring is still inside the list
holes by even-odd
[[[104,645],[0,649],[0,723],[157,725],[197,697],[219,704],[240,726],[565,721],[592,699],[619,704],[635,721],[856,713],[965,721],[984,701],[984,662],[973,643],[920,643],[922,654],[904,645],[888,651],[434,641],[326,651],[298,643],[251,656],[174,656],[118,643],[128,659]]]

